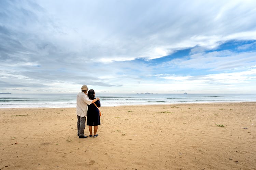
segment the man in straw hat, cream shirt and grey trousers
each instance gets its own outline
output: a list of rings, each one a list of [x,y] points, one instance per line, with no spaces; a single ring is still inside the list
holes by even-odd
[[[79,138],[87,138],[87,136],[84,135],[85,120],[86,120],[87,109],[88,109],[87,104],[90,105],[91,103],[94,103],[100,99],[96,98],[94,100],[90,100],[86,95],[88,91],[88,88],[86,85],[83,85],[81,89],[82,89],[82,92],[77,94],[77,97],[76,97],[77,136],[79,136]]]

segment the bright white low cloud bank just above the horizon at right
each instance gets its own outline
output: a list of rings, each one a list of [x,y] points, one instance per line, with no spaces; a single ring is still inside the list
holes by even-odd
[[[176,76],[160,77],[165,82],[142,83],[143,90],[147,91],[150,87],[155,87],[159,92],[180,92],[190,93],[241,93],[256,90],[253,84],[256,84],[256,68],[241,72],[218,73],[197,76]]]

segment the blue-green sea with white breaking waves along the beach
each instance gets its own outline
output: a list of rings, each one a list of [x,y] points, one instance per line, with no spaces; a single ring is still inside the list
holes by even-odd
[[[0,108],[76,107],[77,94],[0,94]],[[256,102],[256,94],[96,94],[101,106]]]

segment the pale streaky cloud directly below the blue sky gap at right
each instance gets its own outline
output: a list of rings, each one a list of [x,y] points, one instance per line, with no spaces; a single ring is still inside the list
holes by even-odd
[[[209,53],[192,54],[184,58],[176,58],[162,67],[179,67],[207,70],[232,70],[249,67],[256,64],[256,52],[235,53],[229,50]]]

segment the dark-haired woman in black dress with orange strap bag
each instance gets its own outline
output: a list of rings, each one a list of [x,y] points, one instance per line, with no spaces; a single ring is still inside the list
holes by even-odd
[[[95,98],[95,92],[93,89],[90,89],[88,91],[88,98],[90,100],[94,100]],[[97,100],[95,102],[95,104],[98,106],[98,108],[100,107],[100,101]],[[88,105],[88,111],[87,111],[87,126],[89,127],[89,131],[90,131],[90,137],[97,137],[97,130],[98,130],[98,125],[100,125],[100,112],[94,103]],[[92,133],[92,129],[94,126],[94,135]]]

